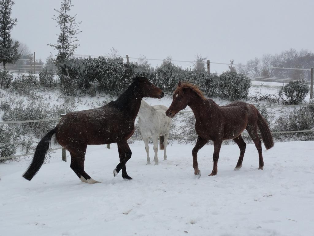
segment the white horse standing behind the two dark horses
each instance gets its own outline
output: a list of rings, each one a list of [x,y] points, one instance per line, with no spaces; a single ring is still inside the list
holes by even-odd
[[[160,149],[165,149],[164,160],[167,160],[166,148],[169,138],[169,130],[171,127],[171,118],[166,116],[165,112],[168,108],[163,105],[150,106],[142,100],[138,111],[138,127],[141,137],[145,143],[147,153],[147,164],[150,164],[148,140],[150,137],[154,143],[154,162],[158,164],[158,137],[160,137]]]

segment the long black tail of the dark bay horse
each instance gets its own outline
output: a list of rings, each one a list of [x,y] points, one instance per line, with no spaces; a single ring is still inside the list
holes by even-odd
[[[39,171],[40,167],[44,163],[46,153],[49,149],[50,140],[54,133],[56,133],[56,130],[52,129],[38,143],[32,163],[23,174],[23,177],[25,179],[31,180],[34,177],[34,175]]]

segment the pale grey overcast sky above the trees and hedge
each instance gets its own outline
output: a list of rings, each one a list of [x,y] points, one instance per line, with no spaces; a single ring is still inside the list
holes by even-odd
[[[14,39],[46,58],[56,52],[59,28],[51,19],[61,0],[15,0]],[[295,48],[314,52],[314,1],[72,0],[71,15],[82,21],[77,54],[244,63],[264,53]],[[161,62],[150,61],[153,65]],[[186,64],[181,63],[182,66]],[[227,67],[211,65],[211,71]]]

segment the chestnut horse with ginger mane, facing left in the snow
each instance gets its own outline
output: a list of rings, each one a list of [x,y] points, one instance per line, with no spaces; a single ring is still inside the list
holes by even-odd
[[[242,139],[241,133],[246,129],[251,136],[258,151],[259,168],[263,170],[264,161],[262,155],[262,143],[258,137],[257,127],[266,149],[273,147],[273,138],[264,117],[258,112],[256,107],[241,101],[235,101],[225,106],[217,105],[213,100],[206,99],[203,93],[190,83],[179,82],[173,94],[173,100],[166,111],[167,116],[173,117],[180,110],[191,107],[195,118],[195,130],[198,139],[192,150],[193,168],[195,175],[201,175],[198,169],[197,153],[209,140],[214,141],[214,167],[210,176],[217,174],[217,163],[221,143],[225,139],[233,139],[240,148],[240,157],[235,170],[242,166],[246,143]]]

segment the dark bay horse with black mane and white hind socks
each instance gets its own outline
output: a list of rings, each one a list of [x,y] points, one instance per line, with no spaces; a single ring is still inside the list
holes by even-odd
[[[117,143],[120,163],[114,169],[116,176],[122,169],[127,175],[126,162],[132,152],[127,139],[134,132],[134,121],[143,97],[162,98],[164,92],[155,87],[145,77],[136,77],[127,90],[116,101],[96,109],[70,112],[57,126],[48,132],[38,143],[32,163],[24,173],[31,180],[44,162],[51,136],[56,134],[57,142],[71,154],[71,168],[85,183],[99,183],[84,171],[87,145]]]

